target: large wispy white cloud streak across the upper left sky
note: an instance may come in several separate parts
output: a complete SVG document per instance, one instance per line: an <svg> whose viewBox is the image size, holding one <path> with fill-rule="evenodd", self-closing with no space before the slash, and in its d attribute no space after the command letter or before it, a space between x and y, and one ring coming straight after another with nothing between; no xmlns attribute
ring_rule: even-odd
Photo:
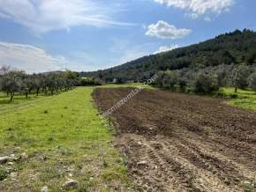
<svg viewBox="0 0 256 192"><path fill-rule="evenodd" d="M36 33L82 25L131 25L115 21L114 10L117 9L93 0L0 0L0 17L10 18Z"/></svg>

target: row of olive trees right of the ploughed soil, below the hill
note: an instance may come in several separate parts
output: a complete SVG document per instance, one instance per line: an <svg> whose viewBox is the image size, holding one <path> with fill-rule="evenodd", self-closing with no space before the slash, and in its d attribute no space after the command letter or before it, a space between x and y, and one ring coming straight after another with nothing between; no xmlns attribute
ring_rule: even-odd
<svg viewBox="0 0 256 192"><path fill-rule="evenodd" d="M211 94L222 86L251 88L256 91L256 67L248 65L219 65L215 67L183 70L165 70L158 72L154 85L172 91L197 92Z"/></svg>

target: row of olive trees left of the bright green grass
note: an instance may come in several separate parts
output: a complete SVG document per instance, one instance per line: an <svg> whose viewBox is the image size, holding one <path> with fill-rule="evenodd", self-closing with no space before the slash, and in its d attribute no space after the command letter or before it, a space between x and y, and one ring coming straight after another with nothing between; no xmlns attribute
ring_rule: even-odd
<svg viewBox="0 0 256 192"><path fill-rule="evenodd" d="M11 101L16 93L27 98L29 94L68 91L76 85L79 85L79 78L71 70L30 75L23 70L11 70L9 66L0 68L0 91L6 92Z"/></svg>

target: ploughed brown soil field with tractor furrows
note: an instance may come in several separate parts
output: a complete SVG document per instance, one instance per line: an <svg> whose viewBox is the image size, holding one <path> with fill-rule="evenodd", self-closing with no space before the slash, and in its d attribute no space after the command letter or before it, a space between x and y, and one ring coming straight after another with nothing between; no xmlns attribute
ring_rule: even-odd
<svg viewBox="0 0 256 192"><path fill-rule="evenodd" d="M131 91L93 96L104 112ZM143 90L112 114L134 182L146 191L256 191L256 113L223 101Z"/></svg>

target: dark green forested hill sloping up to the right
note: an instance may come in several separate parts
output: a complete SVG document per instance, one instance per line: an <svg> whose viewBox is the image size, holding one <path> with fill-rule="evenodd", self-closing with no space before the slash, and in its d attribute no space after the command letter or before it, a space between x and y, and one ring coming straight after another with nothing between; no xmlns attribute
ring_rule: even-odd
<svg viewBox="0 0 256 192"><path fill-rule="evenodd" d="M245 29L221 34L215 39L157 55L148 55L123 65L82 75L112 81L147 79L158 70L204 68L222 63L255 63L256 33Z"/></svg>

